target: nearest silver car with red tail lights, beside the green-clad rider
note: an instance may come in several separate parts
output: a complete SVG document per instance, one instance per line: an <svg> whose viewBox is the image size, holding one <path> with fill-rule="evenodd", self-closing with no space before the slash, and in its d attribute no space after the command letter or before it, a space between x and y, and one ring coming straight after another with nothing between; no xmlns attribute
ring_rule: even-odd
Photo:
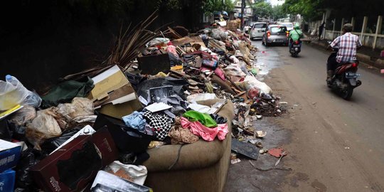
<svg viewBox="0 0 384 192"><path fill-rule="evenodd" d="M262 35L262 43L265 46L270 46L272 43L279 43L284 46L287 46L288 36L289 32L287 31L286 26L270 25L265 30L265 33Z"/></svg>

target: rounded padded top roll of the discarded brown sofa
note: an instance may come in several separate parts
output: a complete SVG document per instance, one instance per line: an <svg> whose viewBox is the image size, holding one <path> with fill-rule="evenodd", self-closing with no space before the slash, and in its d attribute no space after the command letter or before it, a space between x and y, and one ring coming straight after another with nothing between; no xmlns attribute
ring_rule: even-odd
<svg viewBox="0 0 384 192"><path fill-rule="evenodd" d="M201 105L214 105L220 100L206 100L198 102ZM225 150L228 150L231 137L231 122L233 119L233 103L227 104L218 112L220 116L228 119L228 134L223 141L217 138L212 142L206 142L199 139L193 144L164 145L158 148L148 149L150 158L144 162L148 171L168 171L174 164L178 156L178 150L181 147L180 156L177 163L171 167L171 170L199 169L216 164L223 156Z"/></svg>

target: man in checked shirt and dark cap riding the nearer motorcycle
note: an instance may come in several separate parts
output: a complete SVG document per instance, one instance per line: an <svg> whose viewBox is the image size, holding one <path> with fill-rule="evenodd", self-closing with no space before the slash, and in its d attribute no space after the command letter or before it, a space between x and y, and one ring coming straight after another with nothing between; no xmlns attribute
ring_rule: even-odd
<svg viewBox="0 0 384 192"><path fill-rule="evenodd" d="M326 63L327 76L326 81L331 82L334 76L334 71L339 65L346 63L351 60L356 60L356 51L361 48L361 41L358 36L353 35L352 24L346 23L343 26L343 33L338 36L327 48L338 48L336 57L329 58Z"/></svg>

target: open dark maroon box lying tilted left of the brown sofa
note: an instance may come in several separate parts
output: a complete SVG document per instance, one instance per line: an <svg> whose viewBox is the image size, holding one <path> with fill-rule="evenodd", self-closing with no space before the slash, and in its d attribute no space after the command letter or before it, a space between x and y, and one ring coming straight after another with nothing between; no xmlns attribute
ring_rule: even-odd
<svg viewBox="0 0 384 192"><path fill-rule="evenodd" d="M44 191L80 191L118 157L110 132L80 135L33 166L30 173Z"/></svg>

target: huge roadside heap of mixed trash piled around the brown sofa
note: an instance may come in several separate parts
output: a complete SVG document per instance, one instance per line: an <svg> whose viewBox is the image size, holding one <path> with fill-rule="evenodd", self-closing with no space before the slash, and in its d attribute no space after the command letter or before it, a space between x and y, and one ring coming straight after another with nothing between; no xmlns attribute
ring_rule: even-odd
<svg viewBox="0 0 384 192"><path fill-rule="evenodd" d="M216 26L162 34L142 47L127 43L129 58L137 55L128 63L118 62L122 50L114 48L108 59L115 65L69 75L41 97L11 75L0 81L5 186L150 191L146 149L223 140L229 123L235 138L262 137L252 121L282 113L279 98L257 80L257 48L244 34ZM235 105L233 122L217 114L227 102Z"/></svg>

